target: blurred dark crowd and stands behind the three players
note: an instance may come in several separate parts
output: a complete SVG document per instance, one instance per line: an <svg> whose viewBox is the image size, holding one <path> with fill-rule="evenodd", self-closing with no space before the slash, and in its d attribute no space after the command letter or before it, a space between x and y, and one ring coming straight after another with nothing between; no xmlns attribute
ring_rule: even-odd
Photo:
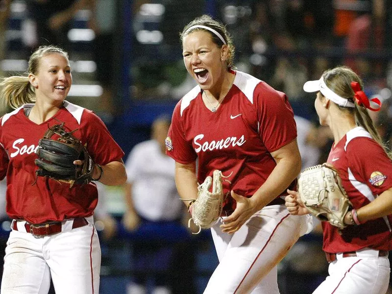
<svg viewBox="0 0 392 294"><path fill-rule="evenodd" d="M356 71L368 97L383 102L372 118L391 147L391 0L0 0L0 77L24 73L39 45L66 49L73 69L67 100L101 117L126 160L135 145L160 140L151 134L152 123L170 118L178 100L196 85L182 61L179 32L202 14L227 24L238 70L288 95L303 168L325 162L332 141L318 124L314 95L302 86L337 65ZM1 103L1 115L8 111ZM154 168L153 162L145 165ZM142 180L153 176L139 175ZM202 293L218 263L210 233L192 235L186 211L170 220L163 213L148 220L133 211L128 203L132 184L99 187L99 293ZM132 211L139 218L127 215ZM9 233L3 206L0 214L3 247ZM316 221L315 230L279 265L281 293L312 293L327 266ZM132 288L139 281L147 292Z"/></svg>

